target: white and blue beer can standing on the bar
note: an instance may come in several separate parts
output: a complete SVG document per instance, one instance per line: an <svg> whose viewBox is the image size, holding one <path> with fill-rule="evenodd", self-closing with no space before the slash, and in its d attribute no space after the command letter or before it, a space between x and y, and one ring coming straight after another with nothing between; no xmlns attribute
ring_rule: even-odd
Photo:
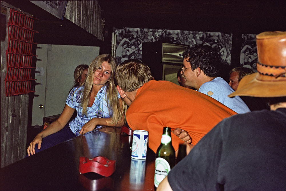
<svg viewBox="0 0 286 191"><path fill-rule="evenodd" d="M134 130L131 157L134 159L146 159L147 144L148 131Z"/></svg>

